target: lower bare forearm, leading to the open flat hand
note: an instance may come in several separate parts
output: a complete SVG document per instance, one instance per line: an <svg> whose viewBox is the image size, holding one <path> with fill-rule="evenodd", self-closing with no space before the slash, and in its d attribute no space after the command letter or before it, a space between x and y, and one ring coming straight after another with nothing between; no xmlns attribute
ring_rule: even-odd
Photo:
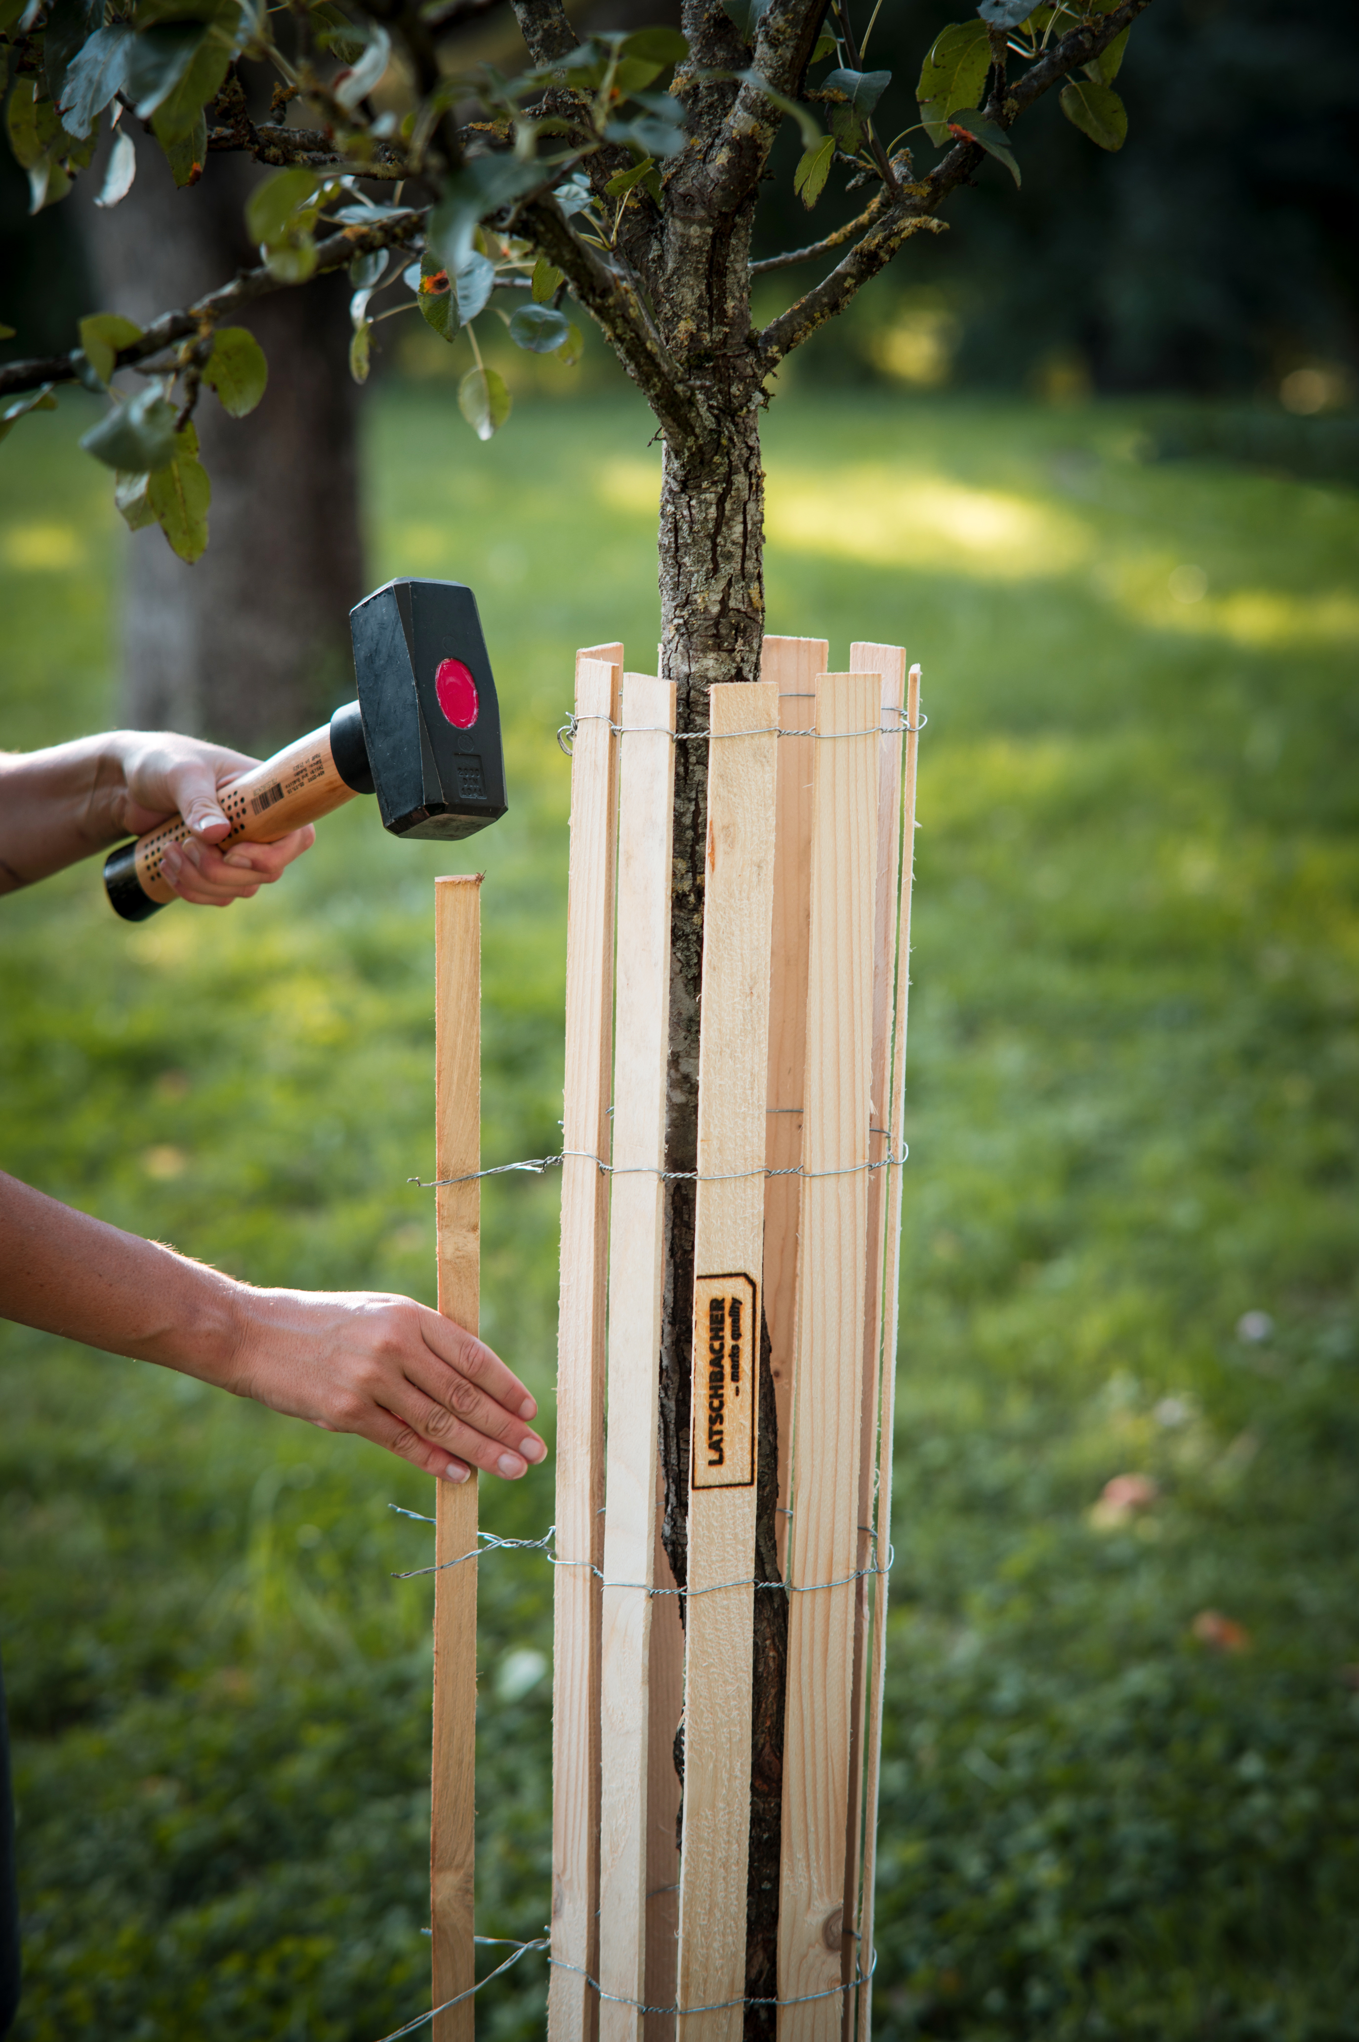
<svg viewBox="0 0 1359 2042"><path fill-rule="evenodd" d="M0 1172L0 1315L233 1389L243 1286Z"/></svg>

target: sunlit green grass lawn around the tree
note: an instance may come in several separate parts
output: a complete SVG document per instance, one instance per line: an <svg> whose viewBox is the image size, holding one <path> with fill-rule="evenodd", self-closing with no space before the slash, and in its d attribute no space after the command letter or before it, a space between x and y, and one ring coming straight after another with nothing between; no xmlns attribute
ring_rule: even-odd
<svg viewBox="0 0 1359 2042"><path fill-rule="evenodd" d="M119 533L0 457L0 741L100 727ZM924 662L883 2038L1359 2038L1359 500L1134 406L768 415L768 619ZM262 1282L431 1299L431 876L486 870L484 1156L558 1141L570 655L656 639L638 404L370 412L372 580L476 586L511 815L358 805L268 898L0 905L0 1162ZM37 500L35 500L37 498ZM486 1186L550 1393L556 1186ZM429 1482L0 1329L22 2042L374 2042L427 2005ZM1106 1482L1142 1476L1102 1501ZM1124 1501L1120 1503L1120 1495ZM1142 1501L1136 1501L1136 1499ZM537 1534L550 1474L484 1487ZM550 1905L550 1578L482 1568L478 1913ZM488 1956L490 1962L490 1956ZM527 1958L480 2007L542 2034Z"/></svg>

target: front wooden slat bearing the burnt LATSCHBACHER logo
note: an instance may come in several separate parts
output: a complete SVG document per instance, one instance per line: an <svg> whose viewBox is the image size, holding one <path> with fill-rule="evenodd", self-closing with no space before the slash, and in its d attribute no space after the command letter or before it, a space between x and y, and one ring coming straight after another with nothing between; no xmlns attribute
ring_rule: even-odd
<svg viewBox="0 0 1359 2042"><path fill-rule="evenodd" d="M709 690L678 2005L738 2005L678 2042L740 2042L746 1989L777 721L777 682Z"/></svg>

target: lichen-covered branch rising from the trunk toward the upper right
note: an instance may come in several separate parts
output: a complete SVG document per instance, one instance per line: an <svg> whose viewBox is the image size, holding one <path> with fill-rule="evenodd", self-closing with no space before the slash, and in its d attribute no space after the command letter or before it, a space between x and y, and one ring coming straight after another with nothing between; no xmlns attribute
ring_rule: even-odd
<svg viewBox="0 0 1359 2042"><path fill-rule="evenodd" d="M997 94L991 96L985 106L987 118L995 120L997 127L1012 127L1034 100L1050 92L1052 86L1061 84L1081 63L1089 63L1106 51L1146 6L1151 6L1151 0L1122 0L1122 6L1110 14L1099 14L1097 20L1073 29L1061 43L1055 43L1046 57L1040 57L1024 78L1005 90L1003 100ZM887 268L911 235L922 229L940 233L944 223L936 221L934 214L950 192L960 184L971 184L973 172L983 161L985 149L979 149L975 141L960 141L948 151L942 163L936 163L928 178L920 184L903 186L901 204L891 208L889 218L864 235L844 261L828 278L822 278L805 298L799 298L797 304L791 304L787 312L768 323L760 335L760 349L768 368L772 370L795 347L801 347L817 327L824 327L828 319L842 312L850 298Z"/></svg>

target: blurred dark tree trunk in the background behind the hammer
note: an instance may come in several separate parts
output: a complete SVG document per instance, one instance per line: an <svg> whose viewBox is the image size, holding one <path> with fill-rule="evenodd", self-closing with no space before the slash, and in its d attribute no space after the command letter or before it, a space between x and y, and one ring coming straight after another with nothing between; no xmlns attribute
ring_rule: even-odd
<svg viewBox="0 0 1359 2042"><path fill-rule="evenodd" d="M180 192L155 141L127 127L137 182L86 225L100 306L145 325L255 259L243 204L260 172L210 155L202 186ZM270 749L354 692L347 613L364 566L345 302L337 276L245 308L270 384L247 419L206 388L198 402L210 545L190 568L159 527L131 537L123 717L135 729Z"/></svg>

